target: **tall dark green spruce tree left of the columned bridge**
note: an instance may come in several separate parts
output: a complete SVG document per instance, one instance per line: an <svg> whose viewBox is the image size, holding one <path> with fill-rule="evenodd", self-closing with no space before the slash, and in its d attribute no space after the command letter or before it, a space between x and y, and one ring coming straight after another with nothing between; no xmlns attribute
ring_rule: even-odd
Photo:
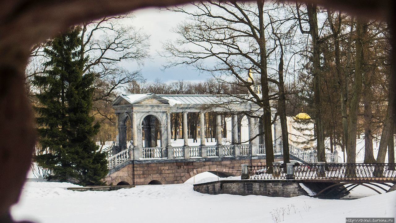
<svg viewBox="0 0 396 223"><path fill-rule="evenodd" d="M50 59L41 75L34 77L40 88L36 106L40 146L49 149L35 157L52 170L48 179L74 181L81 185L103 184L107 174L106 155L97 152L93 137L99 131L92 109L91 73L83 74L86 60L80 59L80 27L53 38L44 53Z"/></svg>

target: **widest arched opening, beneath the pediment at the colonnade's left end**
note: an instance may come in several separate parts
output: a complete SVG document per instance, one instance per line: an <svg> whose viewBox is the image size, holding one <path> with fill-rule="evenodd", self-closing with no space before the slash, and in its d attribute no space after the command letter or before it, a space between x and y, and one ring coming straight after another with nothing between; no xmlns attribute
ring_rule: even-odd
<svg viewBox="0 0 396 223"><path fill-rule="evenodd" d="M147 115L142 121L142 140L144 148L161 147L161 123L154 115Z"/></svg>

